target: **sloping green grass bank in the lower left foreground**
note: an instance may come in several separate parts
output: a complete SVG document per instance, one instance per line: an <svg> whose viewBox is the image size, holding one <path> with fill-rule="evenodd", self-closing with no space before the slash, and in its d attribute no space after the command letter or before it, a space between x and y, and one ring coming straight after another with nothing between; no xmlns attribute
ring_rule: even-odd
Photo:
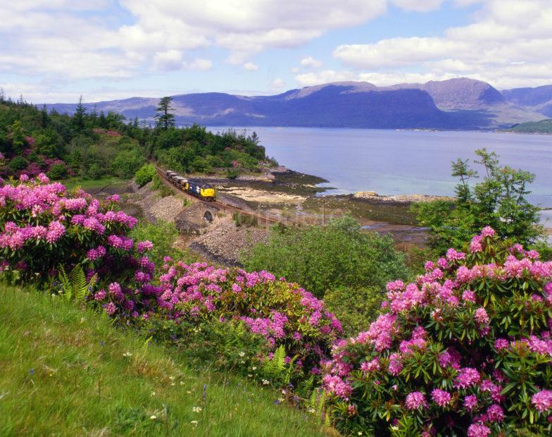
<svg viewBox="0 0 552 437"><path fill-rule="evenodd" d="M277 390L190 369L60 298L0 284L0 320L0 436L325 435Z"/></svg>

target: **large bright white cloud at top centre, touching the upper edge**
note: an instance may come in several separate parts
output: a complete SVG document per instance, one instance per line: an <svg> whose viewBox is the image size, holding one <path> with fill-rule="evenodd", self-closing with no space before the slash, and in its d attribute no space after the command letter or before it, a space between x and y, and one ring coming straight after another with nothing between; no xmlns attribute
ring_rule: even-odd
<svg viewBox="0 0 552 437"><path fill-rule="evenodd" d="M228 61L241 64L267 48L298 47L327 30L350 27L381 15L387 0L122 0L136 18L137 42L151 35L156 44L183 48L192 41L228 49ZM201 35L201 37L197 37Z"/></svg>

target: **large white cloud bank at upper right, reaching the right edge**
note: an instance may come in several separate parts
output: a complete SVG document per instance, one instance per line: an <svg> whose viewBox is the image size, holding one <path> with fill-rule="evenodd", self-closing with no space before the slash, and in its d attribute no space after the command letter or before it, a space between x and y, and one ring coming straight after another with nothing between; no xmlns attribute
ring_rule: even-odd
<svg viewBox="0 0 552 437"><path fill-rule="evenodd" d="M458 6L474 3L456 1ZM543 85L552 78L552 4L550 0L487 0L473 23L451 27L441 37L346 44L333 55L344 66L360 70L359 75L370 73L383 82L390 74L405 77L403 70L410 69L420 71L421 77L465 75L501 88Z"/></svg>

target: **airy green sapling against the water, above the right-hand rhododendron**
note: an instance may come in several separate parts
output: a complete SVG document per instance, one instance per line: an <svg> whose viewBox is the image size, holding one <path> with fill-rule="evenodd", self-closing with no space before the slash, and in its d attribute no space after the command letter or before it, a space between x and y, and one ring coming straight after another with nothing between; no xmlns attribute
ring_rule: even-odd
<svg viewBox="0 0 552 437"><path fill-rule="evenodd" d="M529 245L543 235L538 207L527 202L527 185L534 174L498 164L498 155L486 149L475 151L485 169L482 182L471 187L477 178L468 160L452 164L452 176L460 178L454 202L413 204L422 226L429 228L429 245L444 253L447 247L462 247L484 226L491 226L501 238L512 238Z"/></svg>

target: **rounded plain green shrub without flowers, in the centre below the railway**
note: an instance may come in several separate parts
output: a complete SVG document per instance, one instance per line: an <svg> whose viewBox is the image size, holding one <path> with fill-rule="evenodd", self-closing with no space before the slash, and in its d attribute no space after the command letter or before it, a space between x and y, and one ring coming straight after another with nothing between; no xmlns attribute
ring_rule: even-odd
<svg viewBox="0 0 552 437"><path fill-rule="evenodd" d="M325 228L273 228L268 242L241 260L246 269L272 271L317 297L339 286L384 290L387 281L408 274L391 237L363 232L351 216L333 219Z"/></svg>

